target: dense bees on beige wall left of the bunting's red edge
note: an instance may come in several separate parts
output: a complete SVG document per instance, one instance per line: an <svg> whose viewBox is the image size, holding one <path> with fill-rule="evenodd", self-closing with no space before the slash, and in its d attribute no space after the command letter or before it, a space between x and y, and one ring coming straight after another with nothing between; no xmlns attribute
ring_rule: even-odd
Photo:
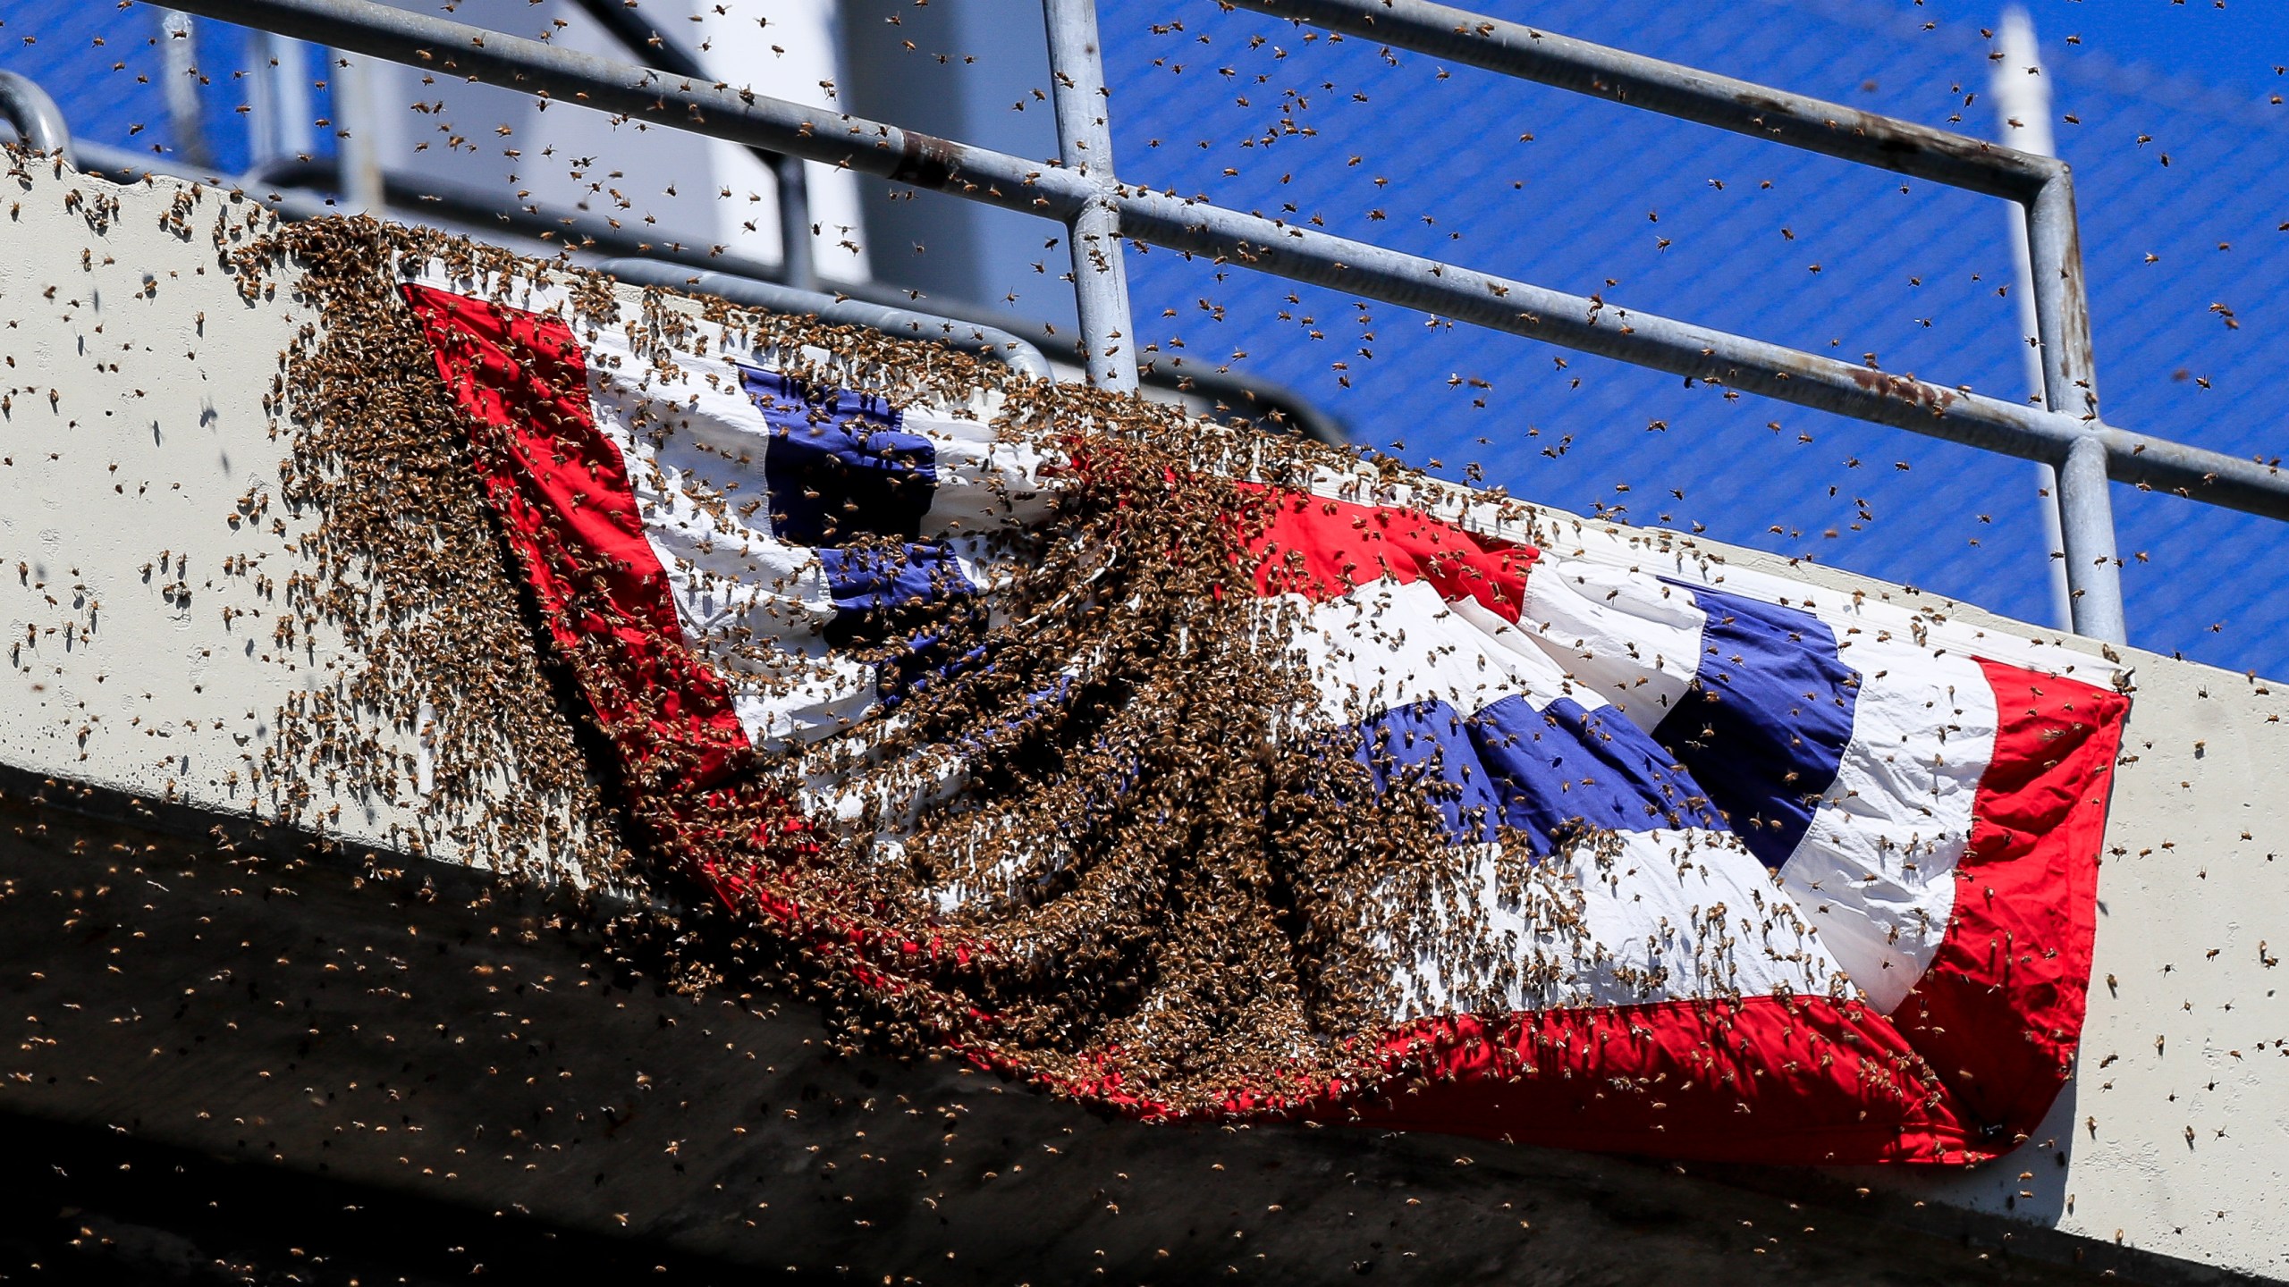
<svg viewBox="0 0 2289 1287"><path fill-rule="evenodd" d="M215 240L250 300L286 291L323 323L279 353L270 398L277 502L316 515L272 605L279 657L339 639L362 660L288 698L252 788L279 820L318 829L341 799L419 797L421 827L391 836L403 852L613 886L632 856L536 648L467 433L403 321L389 234L250 218Z"/></svg>

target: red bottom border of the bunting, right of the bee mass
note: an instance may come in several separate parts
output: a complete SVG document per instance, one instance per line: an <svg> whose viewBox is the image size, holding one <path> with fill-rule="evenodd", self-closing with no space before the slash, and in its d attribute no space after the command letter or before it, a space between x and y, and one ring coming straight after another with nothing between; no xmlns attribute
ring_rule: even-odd
<svg viewBox="0 0 2289 1287"><path fill-rule="evenodd" d="M1991 1156L1925 1060L1859 1001L1744 996L1456 1014L1392 1031L1380 1065L1387 1081L1364 1095L1351 1085L1236 1095L1190 1115L1128 1095L1117 1079L1060 1090L1147 1120L1316 1120L1678 1161Z"/></svg>

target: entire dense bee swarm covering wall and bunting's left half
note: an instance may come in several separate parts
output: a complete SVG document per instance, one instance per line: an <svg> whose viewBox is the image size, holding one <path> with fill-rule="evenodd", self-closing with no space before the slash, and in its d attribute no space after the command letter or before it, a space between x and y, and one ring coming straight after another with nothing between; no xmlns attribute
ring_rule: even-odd
<svg viewBox="0 0 2289 1287"><path fill-rule="evenodd" d="M1502 1010L1522 976L1554 985L1595 955L1577 891L1522 854L1499 884L1531 907L1543 950L1456 932L1486 877L1447 840L1444 788L1307 714L1321 701L1291 646L1298 607L1254 595L1266 497L1328 476L1371 492L1396 465L810 318L662 291L629 311L561 261L371 220L277 227L236 263L247 291L286 284L323 323L282 355L275 401L279 495L320 515L304 538L316 575L286 589L291 611L364 657L339 692L282 712L263 779L286 818L311 808L311 779L401 797L412 767L396 747L419 721L428 802L478 818L456 852L597 895L629 957L694 989L813 998L852 1049L952 1047L1149 1113L1385 1081L1380 1037L1419 1008L1394 962L1437 960L1449 1010ZM508 307L561 289L575 339L625 332L636 362L620 378L666 385L678 355L719 346L813 389L952 408L1055 460L1048 520L991 536L991 605L932 598L838 639L872 666L909 664L918 634L934 657L987 662L810 747L675 733L684 694L641 682L657 671L632 653L641 630L613 630L641 625L613 598L616 568L504 540L488 472L508 444L439 380L398 293L421 273L490 284ZM508 344L520 371L561 357ZM655 444L678 431L675 405L639 419ZM533 577L568 598L536 602ZM602 630L552 634L552 614ZM861 804L822 815L819 783ZM540 806L563 802L584 827ZM1591 829L1570 845L1616 850Z"/></svg>

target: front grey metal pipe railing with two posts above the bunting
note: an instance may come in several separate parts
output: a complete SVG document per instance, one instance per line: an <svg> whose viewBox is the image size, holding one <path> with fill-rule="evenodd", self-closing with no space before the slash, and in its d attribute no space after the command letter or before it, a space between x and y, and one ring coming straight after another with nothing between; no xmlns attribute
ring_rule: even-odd
<svg viewBox="0 0 2289 1287"><path fill-rule="evenodd" d="M1124 183L1112 169L1094 0L1041 2L1048 18L1058 163L806 108L698 76L611 62L375 0L169 0L176 9L529 92L545 103L579 103L623 119L1060 220L1074 252L1087 376L1115 389L1138 385L1128 275L1122 266L1122 240L1131 238L1687 380L2044 460L2058 469L2074 630L2104 641L2124 641L2108 479L2289 518L2289 476L2278 463L2147 437L2099 419L2074 181L2060 160L1421 0L1225 2L2019 202L2028 215L2044 405L1852 366L1284 220L1243 215L1183 199L1174 190Z"/></svg>

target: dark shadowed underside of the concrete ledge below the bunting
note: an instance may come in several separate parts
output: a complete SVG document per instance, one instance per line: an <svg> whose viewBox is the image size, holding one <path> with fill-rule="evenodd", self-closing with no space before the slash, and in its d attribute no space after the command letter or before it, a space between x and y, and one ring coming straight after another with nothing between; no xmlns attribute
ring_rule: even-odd
<svg viewBox="0 0 2289 1287"><path fill-rule="evenodd" d="M89 1239L160 1248L146 1273L316 1255L336 1282L467 1280L572 1248L559 1271L588 1282L2081 1280L1998 1227L1914 1232L1854 1195L1437 1136L1144 1127L955 1060L838 1058L808 1005L678 996L645 943L556 927L538 895L357 882L71 818L69 788L11 795L0 1131L64 1170L14 1209L71 1205ZM158 1145L238 1168L169 1205L195 1179ZM153 1172L133 1200L96 1189L119 1163ZM247 1207L304 1255L263 1264Z"/></svg>

